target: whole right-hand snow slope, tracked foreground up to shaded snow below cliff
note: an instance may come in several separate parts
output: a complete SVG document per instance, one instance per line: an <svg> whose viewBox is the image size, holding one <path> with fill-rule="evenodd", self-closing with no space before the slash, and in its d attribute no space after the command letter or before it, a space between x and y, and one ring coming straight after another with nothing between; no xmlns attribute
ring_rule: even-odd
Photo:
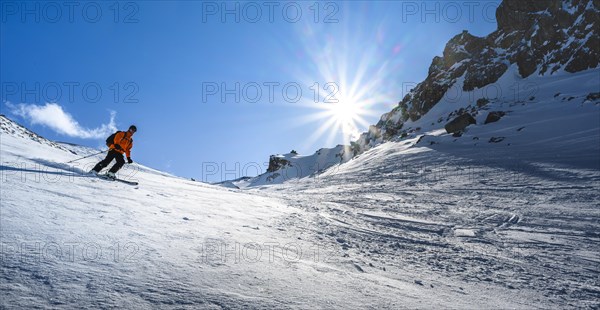
<svg viewBox="0 0 600 310"><path fill-rule="evenodd" d="M412 278L444 300L437 307L461 307L444 295L453 292L469 309L595 309L600 106L574 100L521 106L459 138L383 143L314 178L250 192L306 210L297 233L337 242L340 264Z"/></svg>

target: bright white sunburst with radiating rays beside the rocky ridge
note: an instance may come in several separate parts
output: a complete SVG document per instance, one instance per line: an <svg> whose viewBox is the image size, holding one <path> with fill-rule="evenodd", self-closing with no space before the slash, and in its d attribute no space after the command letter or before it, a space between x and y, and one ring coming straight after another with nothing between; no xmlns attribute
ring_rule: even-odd
<svg viewBox="0 0 600 310"><path fill-rule="evenodd" d="M399 57L385 55L385 51L393 52L391 47L365 46L374 31L342 27L339 35L323 37L318 27L305 25L300 36L304 39L302 55L311 66L303 67L298 78L314 85L310 88L314 96L302 104L315 112L298 118L298 126L320 123L305 140L306 148L324 136L329 145L336 141L349 145L397 100L397 85L390 82L398 63L388 57Z"/></svg>

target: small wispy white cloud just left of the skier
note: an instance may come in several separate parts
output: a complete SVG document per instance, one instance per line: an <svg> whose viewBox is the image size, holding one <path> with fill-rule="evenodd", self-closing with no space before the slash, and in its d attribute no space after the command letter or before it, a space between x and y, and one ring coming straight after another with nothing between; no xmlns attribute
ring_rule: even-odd
<svg viewBox="0 0 600 310"><path fill-rule="evenodd" d="M71 116L65 112L63 108L56 103L46 103L45 105L35 104L11 104L6 105L10 108L13 114L19 115L31 124L39 124L47 126L55 132L70 137L83 139L101 139L109 136L117 130L115 125L114 111L110 112L110 121L108 124L102 124L98 128L84 128Z"/></svg>

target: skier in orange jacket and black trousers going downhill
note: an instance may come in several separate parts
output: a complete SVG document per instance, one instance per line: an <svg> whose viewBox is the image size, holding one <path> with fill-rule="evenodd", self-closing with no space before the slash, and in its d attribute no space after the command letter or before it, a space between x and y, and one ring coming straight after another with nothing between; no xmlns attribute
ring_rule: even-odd
<svg viewBox="0 0 600 310"><path fill-rule="evenodd" d="M131 160L131 147L133 146L133 139L131 138L133 134L137 131L135 125L129 126L127 131L117 131L114 135L114 139L110 141L109 139L106 141L106 144L109 147L108 154L106 154L106 158L101 162L97 163L96 166L92 169L92 173L98 174L102 168L108 166L113 159L116 159L117 162L110 168L107 177L111 179L116 179L116 173L121 169L121 167L125 164L125 159L123 158L123 153L127 156L127 162L133 163Z"/></svg>

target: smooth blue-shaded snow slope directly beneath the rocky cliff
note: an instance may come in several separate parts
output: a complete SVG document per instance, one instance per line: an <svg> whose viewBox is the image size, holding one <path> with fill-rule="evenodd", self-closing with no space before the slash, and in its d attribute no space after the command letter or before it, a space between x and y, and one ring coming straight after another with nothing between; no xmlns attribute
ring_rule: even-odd
<svg viewBox="0 0 600 310"><path fill-rule="evenodd" d="M540 158L551 156L548 152L556 148L561 153L572 150L571 154L580 160L595 157L600 130L600 68L526 79L517 70L516 66L510 67L495 84L495 90L502 95L481 106L468 100L444 98L423 117L407 121L405 137L395 140L423 136L421 143L443 141L465 153L497 143L512 146L515 152L537 149ZM473 98L478 91L462 96ZM440 124L461 113L470 113L476 124L459 135L440 128ZM502 115L499 120L486 124L490 114L498 113Z"/></svg>

